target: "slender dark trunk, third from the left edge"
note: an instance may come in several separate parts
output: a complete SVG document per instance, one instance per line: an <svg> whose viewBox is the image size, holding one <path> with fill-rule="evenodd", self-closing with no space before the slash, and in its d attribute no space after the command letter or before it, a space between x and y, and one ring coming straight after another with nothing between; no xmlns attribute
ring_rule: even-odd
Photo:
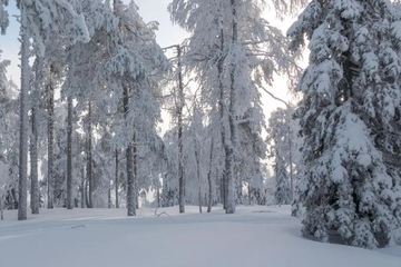
<svg viewBox="0 0 401 267"><path fill-rule="evenodd" d="M55 137L55 88L52 85L52 66L50 66L50 81L47 85L48 97L48 209L55 207L55 185L56 177L53 171L53 137Z"/></svg>

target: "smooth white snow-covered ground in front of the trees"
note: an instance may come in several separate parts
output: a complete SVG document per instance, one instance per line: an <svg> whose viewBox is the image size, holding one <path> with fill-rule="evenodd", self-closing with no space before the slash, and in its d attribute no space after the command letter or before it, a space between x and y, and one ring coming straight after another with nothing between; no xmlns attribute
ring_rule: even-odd
<svg viewBox="0 0 401 267"><path fill-rule="evenodd" d="M401 247L366 250L301 237L288 207L153 210L40 210L27 221L6 211L1 267L399 267Z"/></svg>

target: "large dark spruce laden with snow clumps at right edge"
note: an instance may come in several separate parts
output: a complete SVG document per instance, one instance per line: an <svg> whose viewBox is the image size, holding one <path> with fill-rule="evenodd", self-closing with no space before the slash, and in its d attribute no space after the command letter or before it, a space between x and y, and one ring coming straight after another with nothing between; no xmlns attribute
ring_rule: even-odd
<svg viewBox="0 0 401 267"><path fill-rule="evenodd" d="M375 248L401 243L401 22L390 1L312 1L290 28L310 41L299 82L303 234Z"/></svg>

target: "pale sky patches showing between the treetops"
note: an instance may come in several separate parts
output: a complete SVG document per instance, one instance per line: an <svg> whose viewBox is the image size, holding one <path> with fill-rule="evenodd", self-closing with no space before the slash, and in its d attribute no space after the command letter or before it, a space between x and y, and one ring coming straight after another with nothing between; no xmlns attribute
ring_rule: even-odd
<svg viewBox="0 0 401 267"><path fill-rule="evenodd" d="M125 3L129 3L130 0L123 0ZM167 6L172 0L136 0L135 3L139 7L139 14L144 18L146 22L158 21L159 30L157 34L157 41L160 47L169 47L172 44L180 43L188 33L182 30L178 26L175 26L170 22L169 13L167 11ZM8 69L8 76L12 78L14 83L20 85L20 69L19 65L19 49L20 43L18 41L19 36L19 23L16 21L16 18L12 16L19 14L19 10L16 8L14 0L10 1L8 7L10 13L10 27L7 29L6 36L0 36L0 49L3 51L1 55L2 59L11 60L11 66ZM291 21L294 19L287 19L284 22L274 20L272 21L272 13L266 12L270 22L275 26L280 26L283 31L291 26ZM275 96L288 101L294 100L293 96L288 93L286 81L284 78L277 77L273 87L267 88ZM283 107L283 103L273 100L265 92L262 92L265 113L268 115L276 107Z"/></svg>

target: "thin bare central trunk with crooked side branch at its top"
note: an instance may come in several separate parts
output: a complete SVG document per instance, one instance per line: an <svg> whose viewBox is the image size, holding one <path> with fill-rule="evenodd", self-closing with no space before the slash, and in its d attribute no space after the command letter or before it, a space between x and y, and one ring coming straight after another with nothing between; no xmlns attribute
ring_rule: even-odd
<svg viewBox="0 0 401 267"><path fill-rule="evenodd" d="M182 47L177 46L178 57L178 107L177 107L177 127L178 127L178 204L179 212L185 212L185 180L183 166L183 109L184 109L184 85L182 72Z"/></svg>

